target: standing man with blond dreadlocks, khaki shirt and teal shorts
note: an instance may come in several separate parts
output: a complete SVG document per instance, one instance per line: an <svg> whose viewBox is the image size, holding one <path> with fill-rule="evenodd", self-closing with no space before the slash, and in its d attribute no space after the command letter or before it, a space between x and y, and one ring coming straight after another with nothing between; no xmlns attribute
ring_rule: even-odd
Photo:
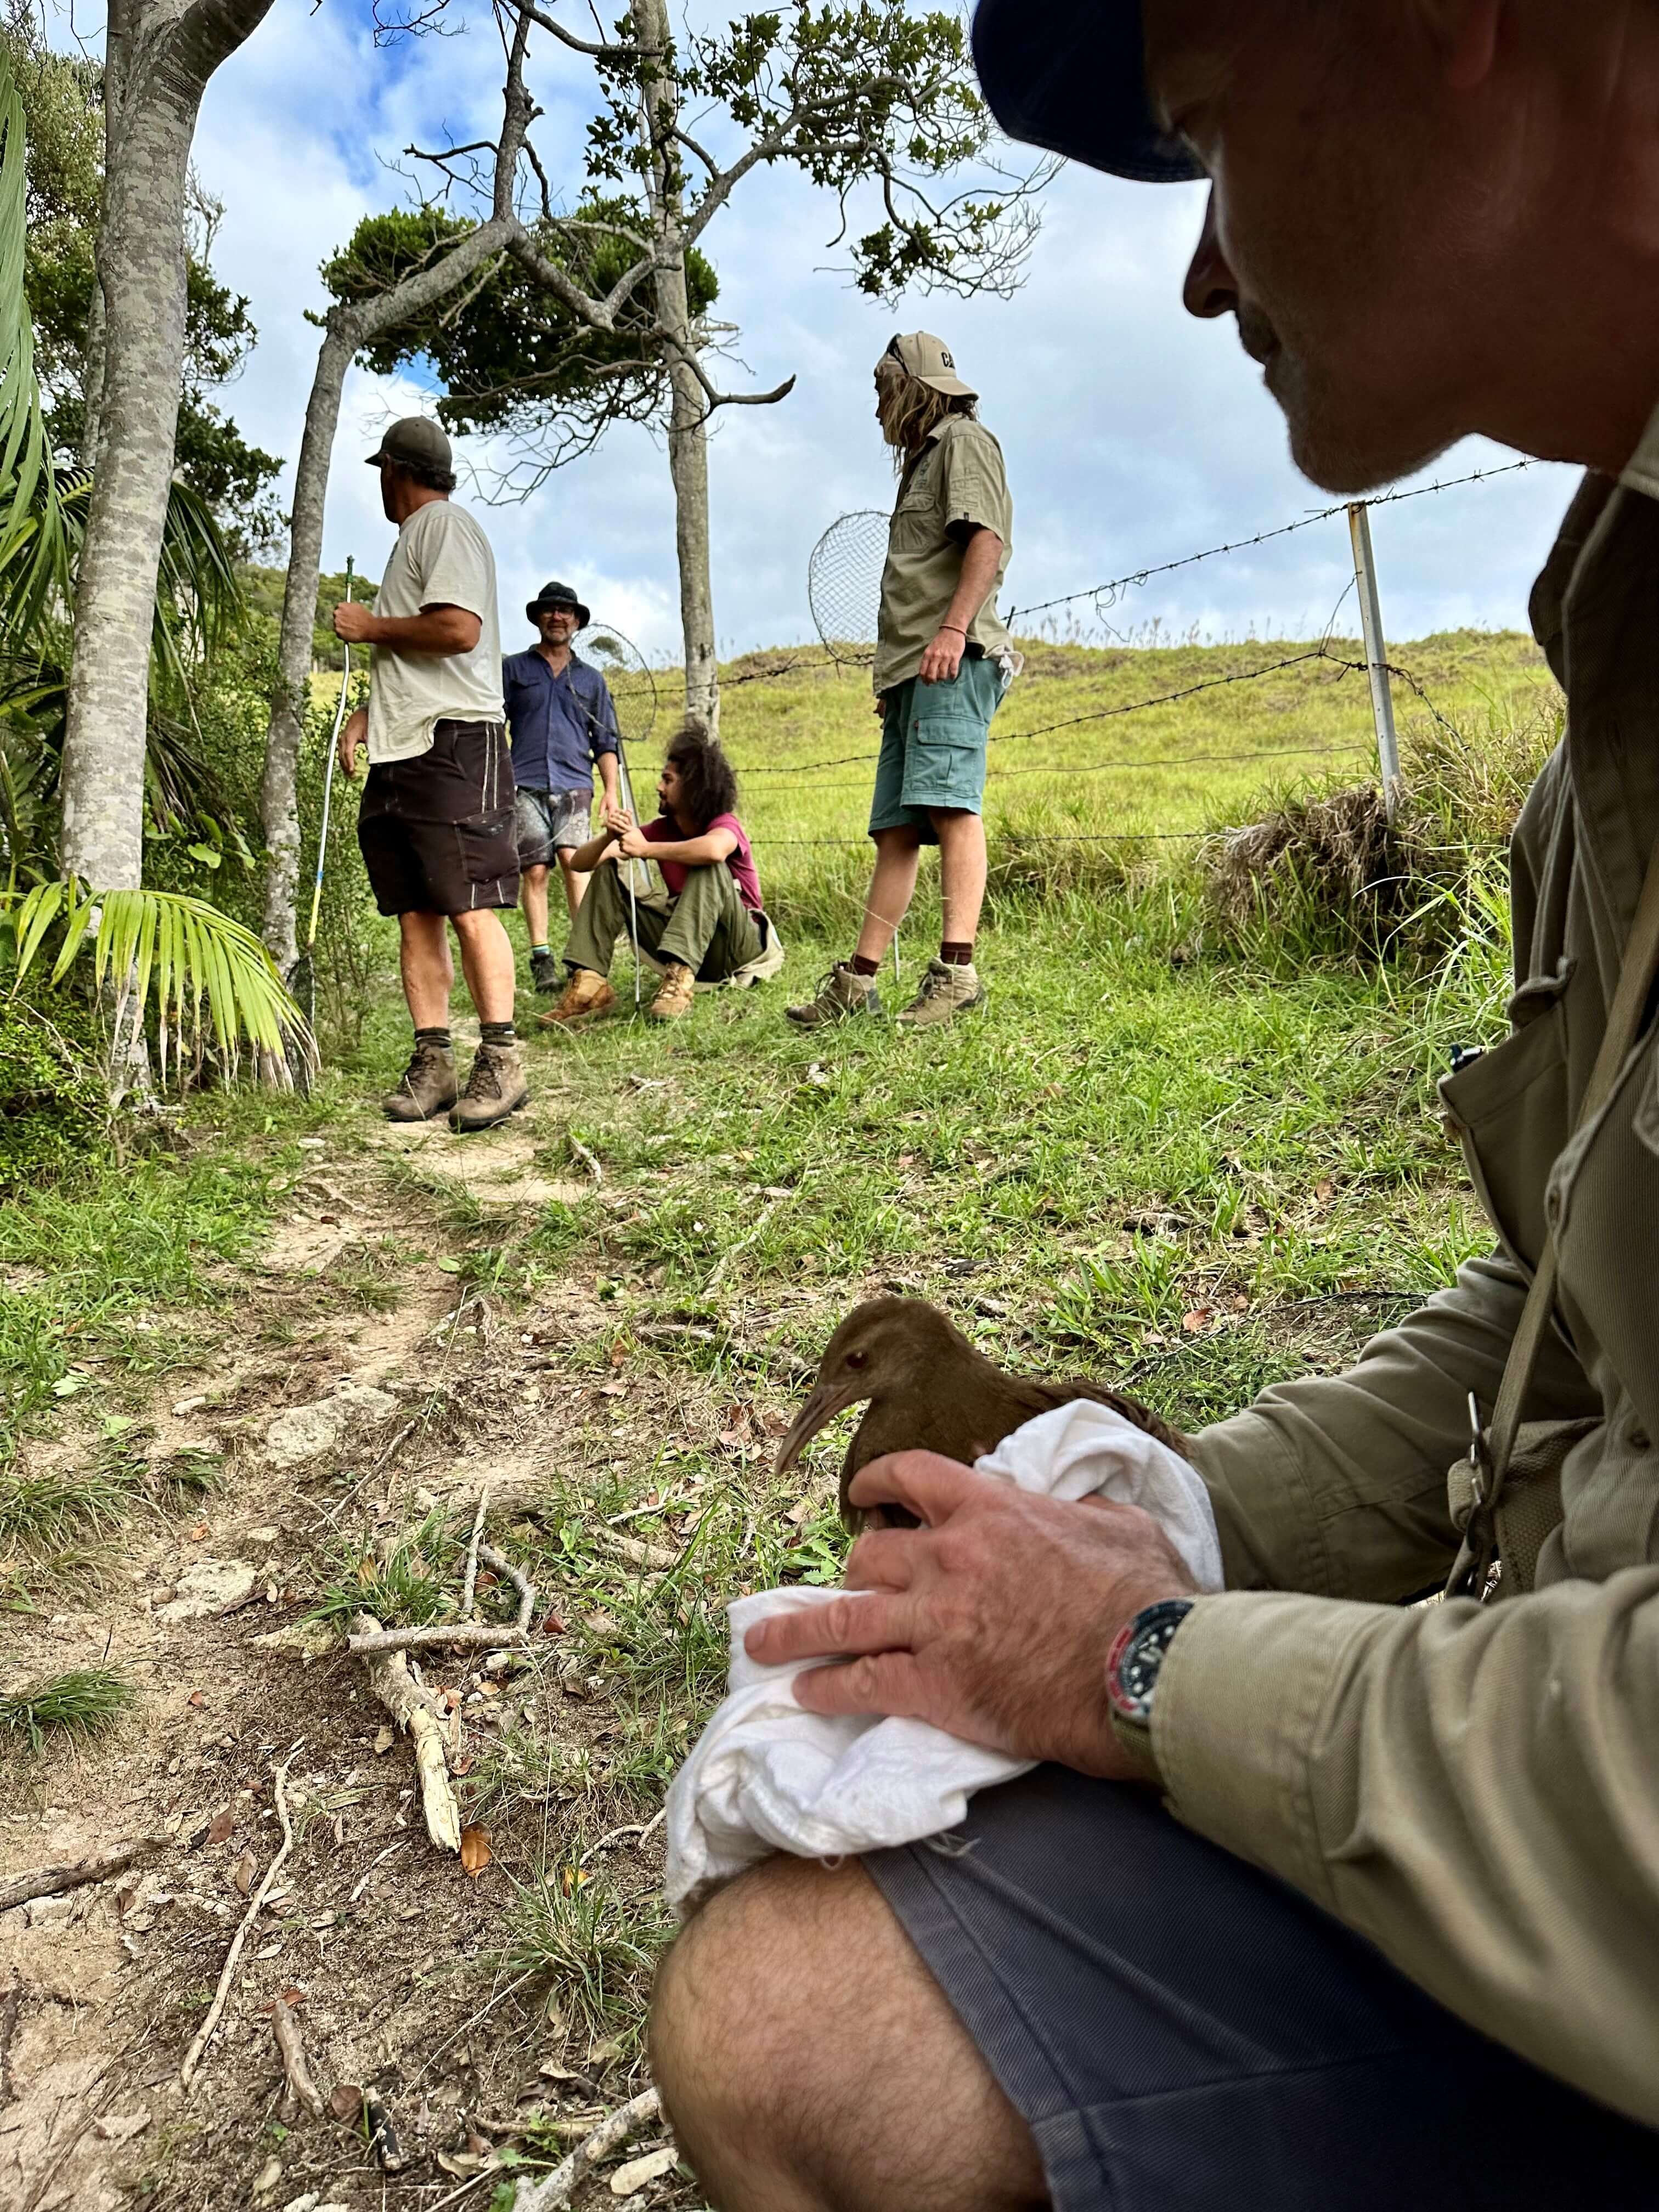
<svg viewBox="0 0 1659 2212"><path fill-rule="evenodd" d="M801 1029L880 1013L874 975L916 894L922 845L940 849L942 942L898 1015L931 1029L984 1006L973 936L984 900L984 748L1015 668L995 593L1009 566L1013 502L1002 447L978 394L925 330L876 363L876 420L894 449L898 500L876 622L880 759L869 805L876 869L852 960L790 1006Z"/></svg>

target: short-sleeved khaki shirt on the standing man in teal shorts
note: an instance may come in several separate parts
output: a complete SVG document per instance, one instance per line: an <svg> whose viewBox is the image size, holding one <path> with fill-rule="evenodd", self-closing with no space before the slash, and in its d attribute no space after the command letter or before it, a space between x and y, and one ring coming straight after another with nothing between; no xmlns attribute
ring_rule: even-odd
<svg viewBox="0 0 1659 2212"><path fill-rule="evenodd" d="M876 622L878 692L891 690L922 666L962 582L964 538L951 533L964 522L978 522L1002 540L995 580L967 637L984 653L1002 653L1009 633L998 622L998 591L1013 549L1013 500L1002 447L984 422L947 416L898 480L898 502L887 524Z"/></svg>

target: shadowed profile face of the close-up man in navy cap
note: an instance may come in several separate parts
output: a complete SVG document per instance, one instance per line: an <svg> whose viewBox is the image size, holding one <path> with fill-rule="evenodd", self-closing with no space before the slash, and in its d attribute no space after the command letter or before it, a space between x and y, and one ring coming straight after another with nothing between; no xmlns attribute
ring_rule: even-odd
<svg viewBox="0 0 1659 2212"><path fill-rule="evenodd" d="M1192 314L1234 314L1338 493L1480 427L1504 206L1449 128L1418 0L1146 0L1148 82L1210 170Z"/></svg>

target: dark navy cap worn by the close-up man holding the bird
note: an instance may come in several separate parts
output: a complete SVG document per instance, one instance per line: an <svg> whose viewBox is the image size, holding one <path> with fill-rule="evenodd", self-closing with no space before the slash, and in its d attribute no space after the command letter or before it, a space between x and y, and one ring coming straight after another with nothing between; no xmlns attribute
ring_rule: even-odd
<svg viewBox="0 0 1659 2212"><path fill-rule="evenodd" d="M1137 184L1203 177L1152 119L1141 0L980 0L973 66L991 113L1026 146Z"/></svg>

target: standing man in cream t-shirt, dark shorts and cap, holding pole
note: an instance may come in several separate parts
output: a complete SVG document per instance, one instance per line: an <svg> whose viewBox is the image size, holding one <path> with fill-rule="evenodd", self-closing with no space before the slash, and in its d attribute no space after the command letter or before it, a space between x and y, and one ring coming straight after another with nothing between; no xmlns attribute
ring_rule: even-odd
<svg viewBox="0 0 1659 2212"><path fill-rule="evenodd" d="M495 560L456 489L449 438L422 416L394 422L369 456L398 524L380 597L334 608L334 630L374 646L369 703L341 730L341 768L369 741L358 845L380 914L403 933L414 1053L383 1099L392 1121L491 1128L529 1097L513 1033L513 947L500 907L518 905L513 763L502 710ZM480 1044L456 1086L449 1037L451 925L478 1009Z"/></svg>

